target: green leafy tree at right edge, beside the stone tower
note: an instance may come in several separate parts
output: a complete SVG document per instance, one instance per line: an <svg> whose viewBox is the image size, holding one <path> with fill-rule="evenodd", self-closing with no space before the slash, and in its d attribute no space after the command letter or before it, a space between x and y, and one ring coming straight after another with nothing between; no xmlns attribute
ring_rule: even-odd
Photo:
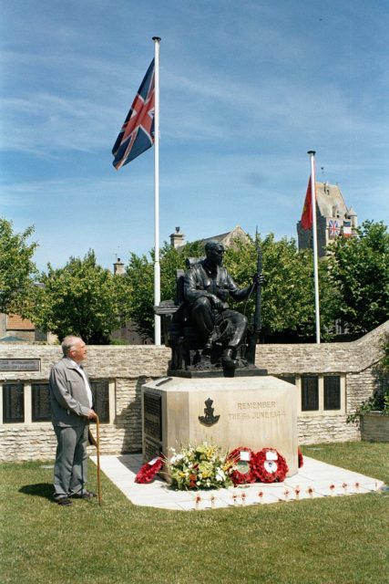
<svg viewBox="0 0 389 584"><path fill-rule="evenodd" d="M357 235L328 246L332 318L361 335L389 317L389 234L383 222L365 221Z"/></svg>

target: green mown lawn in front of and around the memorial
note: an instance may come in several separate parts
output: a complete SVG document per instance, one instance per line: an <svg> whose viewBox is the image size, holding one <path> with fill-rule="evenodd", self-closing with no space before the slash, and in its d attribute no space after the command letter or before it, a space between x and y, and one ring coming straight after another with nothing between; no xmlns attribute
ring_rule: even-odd
<svg viewBox="0 0 389 584"><path fill-rule="evenodd" d="M302 452L389 485L388 444ZM1 584L387 582L384 493L175 512L131 505L102 474L102 506L60 507L45 466L0 464Z"/></svg>

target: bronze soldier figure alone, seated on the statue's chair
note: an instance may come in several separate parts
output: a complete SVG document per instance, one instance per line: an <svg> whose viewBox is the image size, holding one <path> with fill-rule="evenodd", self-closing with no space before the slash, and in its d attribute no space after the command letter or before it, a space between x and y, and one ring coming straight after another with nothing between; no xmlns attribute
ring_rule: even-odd
<svg viewBox="0 0 389 584"><path fill-rule="evenodd" d="M238 366L237 353L245 340L247 318L240 312L230 310L228 297L245 300L249 297L252 286L239 289L227 269L222 266L224 246L217 241L205 245L206 258L191 266L185 274L184 297L190 306L191 321L204 341L207 353L212 346L215 327L223 321L232 325L232 335L228 346L223 350L222 364L234 369ZM254 276L258 284L259 276Z"/></svg>

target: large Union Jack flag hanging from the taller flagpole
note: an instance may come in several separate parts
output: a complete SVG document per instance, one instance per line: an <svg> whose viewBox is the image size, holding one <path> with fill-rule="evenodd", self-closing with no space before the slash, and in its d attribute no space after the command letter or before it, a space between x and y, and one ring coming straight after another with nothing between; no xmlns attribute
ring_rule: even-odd
<svg viewBox="0 0 389 584"><path fill-rule="evenodd" d="M153 59L112 149L117 171L154 144L154 77Z"/></svg>

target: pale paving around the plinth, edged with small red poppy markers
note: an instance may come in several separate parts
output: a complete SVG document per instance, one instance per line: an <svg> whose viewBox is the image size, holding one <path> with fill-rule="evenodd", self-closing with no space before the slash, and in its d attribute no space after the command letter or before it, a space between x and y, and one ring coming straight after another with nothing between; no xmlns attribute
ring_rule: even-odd
<svg viewBox="0 0 389 584"><path fill-rule="evenodd" d="M91 456L91 459L97 463L96 456ZM369 476L304 456L304 464L299 472L286 478L283 483L271 485L254 483L214 491L173 491L159 478L148 485L135 483L135 475L141 464L141 454L100 456L101 470L131 503L177 511L265 505L322 496L356 495L378 491L384 486L382 481Z"/></svg>

